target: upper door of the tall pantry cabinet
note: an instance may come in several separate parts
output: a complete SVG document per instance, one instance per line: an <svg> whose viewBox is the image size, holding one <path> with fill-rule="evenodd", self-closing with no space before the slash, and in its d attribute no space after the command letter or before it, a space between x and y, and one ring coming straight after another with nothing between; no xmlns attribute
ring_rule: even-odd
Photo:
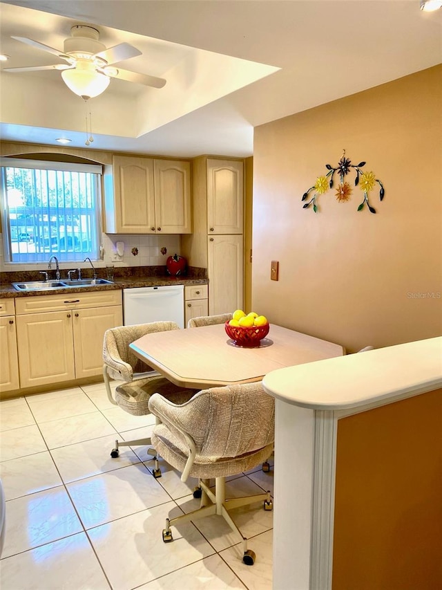
<svg viewBox="0 0 442 590"><path fill-rule="evenodd" d="M242 234L244 165L237 160L207 160L209 234Z"/></svg>

